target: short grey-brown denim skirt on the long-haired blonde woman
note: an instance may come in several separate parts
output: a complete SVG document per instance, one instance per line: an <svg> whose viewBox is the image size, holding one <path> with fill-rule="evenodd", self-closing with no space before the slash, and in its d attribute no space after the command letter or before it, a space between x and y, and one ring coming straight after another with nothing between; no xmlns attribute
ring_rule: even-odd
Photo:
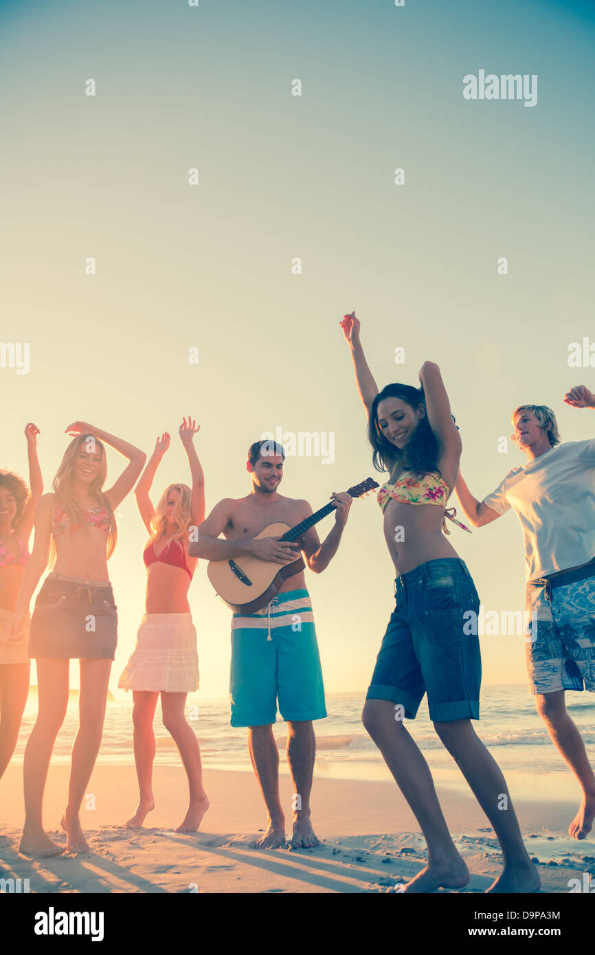
<svg viewBox="0 0 595 955"><path fill-rule="evenodd" d="M30 657L113 660L116 644L112 584L48 574L32 614Z"/></svg>

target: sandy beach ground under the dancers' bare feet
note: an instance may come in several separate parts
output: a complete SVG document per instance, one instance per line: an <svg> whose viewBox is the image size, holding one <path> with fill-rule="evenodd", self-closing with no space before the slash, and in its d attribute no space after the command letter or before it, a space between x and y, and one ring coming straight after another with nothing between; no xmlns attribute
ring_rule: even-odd
<svg viewBox="0 0 595 955"><path fill-rule="evenodd" d="M56 841L69 767L53 766L44 822ZM425 843L396 786L387 782L315 778L312 822L319 848L256 850L265 813L251 773L206 770L210 808L202 831L174 832L187 790L181 767L155 767L157 806L140 830L122 828L135 809L134 766L98 764L82 811L90 855L28 859L18 852L23 819L22 765L0 780L0 878L29 879L34 893L386 893L424 865ZM472 873L465 892L482 893L500 871L498 842L476 800L462 788L436 783L449 828ZM514 792L514 788L511 786ZM290 820L291 781L281 775ZM93 798L92 798L93 797ZM567 837L577 802L517 800L532 858L540 860L542 892L567 893L568 881L595 875L595 840ZM261 829L262 832L262 829ZM290 822L287 833L290 832Z"/></svg>

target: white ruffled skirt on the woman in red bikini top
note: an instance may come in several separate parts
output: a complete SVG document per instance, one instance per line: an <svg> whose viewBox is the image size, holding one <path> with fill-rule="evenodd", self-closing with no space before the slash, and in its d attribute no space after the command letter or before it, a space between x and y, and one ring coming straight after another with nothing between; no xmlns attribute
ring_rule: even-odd
<svg viewBox="0 0 595 955"><path fill-rule="evenodd" d="M199 689L197 634L190 613L145 613L120 690L191 693Z"/></svg>

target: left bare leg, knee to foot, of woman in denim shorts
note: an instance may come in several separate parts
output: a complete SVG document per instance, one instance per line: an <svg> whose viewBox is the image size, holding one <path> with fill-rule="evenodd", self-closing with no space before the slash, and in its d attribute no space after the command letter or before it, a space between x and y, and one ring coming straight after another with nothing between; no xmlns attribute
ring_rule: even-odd
<svg viewBox="0 0 595 955"><path fill-rule="evenodd" d="M367 700L362 720L428 843L428 865L407 883L404 891L432 892L440 886L462 888L469 881L469 871L448 831L428 764L402 720L394 719L394 704L389 700Z"/></svg>

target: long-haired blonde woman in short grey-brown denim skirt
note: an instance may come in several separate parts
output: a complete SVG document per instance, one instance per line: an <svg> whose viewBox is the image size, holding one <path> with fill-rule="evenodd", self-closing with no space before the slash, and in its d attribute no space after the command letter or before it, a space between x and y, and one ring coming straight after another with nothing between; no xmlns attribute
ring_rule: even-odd
<svg viewBox="0 0 595 955"><path fill-rule="evenodd" d="M117 643L117 607L107 559L117 540L114 511L132 490L146 456L119 437L84 421L66 429L74 435L35 512L35 539L14 610L11 639L22 638L39 578L51 561L35 601L29 655L37 663L39 711L25 750L25 827L20 851L57 856L64 850L45 833L42 804L55 737L68 705L69 669L80 660L79 727L73 746L68 803L61 826L67 849L89 852L78 817L103 732L110 669ZM107 477L104 443L127 457L116 483Z"/></svg>

